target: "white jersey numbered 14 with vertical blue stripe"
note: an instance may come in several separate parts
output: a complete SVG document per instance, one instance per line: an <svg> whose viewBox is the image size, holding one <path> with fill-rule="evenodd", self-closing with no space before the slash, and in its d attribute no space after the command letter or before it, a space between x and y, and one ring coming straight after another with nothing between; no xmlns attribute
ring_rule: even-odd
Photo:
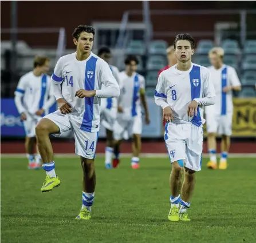
<svg viewBox="0 0 256 243"><path fill-rule="evenodd" d="M116 96L119 95L119 86L108 63L93 53L90 53L84 61L78 61L76 53L64 55L56 64L52 81L57 84L62 83L62 96L72 107L72 112L68 115L77 122L80 129L86 132L98 132L100 97L112 97L112 95L107 97L100 95L100 91L103 91L101 86L113 88L118 91ZM82 99L75 97L76 91L80 89L96 90L96 95Z"/></svg>

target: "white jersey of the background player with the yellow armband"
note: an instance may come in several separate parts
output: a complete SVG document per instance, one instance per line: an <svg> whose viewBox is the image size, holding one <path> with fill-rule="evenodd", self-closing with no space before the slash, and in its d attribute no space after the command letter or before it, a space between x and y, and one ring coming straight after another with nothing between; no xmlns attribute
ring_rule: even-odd
<svg viewBox="0 0 256 243"><path fill-rule="evenodd" d="M141 115L140 89L145 89L145 78L138 73L128 76L125 71L121 71L119 78L121 89L119 105L123 108L123 115L126 118Z"/></svg>

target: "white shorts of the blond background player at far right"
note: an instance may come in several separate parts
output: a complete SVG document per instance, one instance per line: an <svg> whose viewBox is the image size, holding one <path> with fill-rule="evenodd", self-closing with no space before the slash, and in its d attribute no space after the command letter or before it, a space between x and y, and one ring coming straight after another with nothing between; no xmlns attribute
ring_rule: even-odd
<svg viewBox="0 0 256 243"><path fill-rule="evenodd" d="M218 133L226 136L232 134L233 114L212 115L206 114L206 130L207 133Z"/></svg>

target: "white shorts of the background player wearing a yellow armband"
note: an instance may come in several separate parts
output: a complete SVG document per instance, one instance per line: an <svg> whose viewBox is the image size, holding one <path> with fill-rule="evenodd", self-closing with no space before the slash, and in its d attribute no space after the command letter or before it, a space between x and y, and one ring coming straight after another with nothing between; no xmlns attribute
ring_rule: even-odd
<svg viewBox="0 0 256 243"><path fill-rule="evenodd" d="M142 118L141 115L136 115L131 118L124 118L123 114L117 114L117 119L114 125L113 135L115 140L121 140L125 138L125 133L128 132L128 136L132 134L141 134L142 132Z"/></svg>

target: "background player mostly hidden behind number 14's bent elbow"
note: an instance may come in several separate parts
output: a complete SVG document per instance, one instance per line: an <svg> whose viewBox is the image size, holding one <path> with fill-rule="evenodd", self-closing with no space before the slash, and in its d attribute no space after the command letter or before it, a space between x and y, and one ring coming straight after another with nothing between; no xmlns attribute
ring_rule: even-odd
<svg viewBox="0 0 256 243"><path fill-rule="evenodd" d="M98 51L98 56L105 62L109 63L111 60L111 50L108 47L101 47ZM119 70L113 65L109 65L113 76L117 83L119 82ZM101 100L101 125L106 129L107 146L105 148L105 168L111 169L112 154L113 154L113 125L117 115L117 98L107 98Z"/></svg>

